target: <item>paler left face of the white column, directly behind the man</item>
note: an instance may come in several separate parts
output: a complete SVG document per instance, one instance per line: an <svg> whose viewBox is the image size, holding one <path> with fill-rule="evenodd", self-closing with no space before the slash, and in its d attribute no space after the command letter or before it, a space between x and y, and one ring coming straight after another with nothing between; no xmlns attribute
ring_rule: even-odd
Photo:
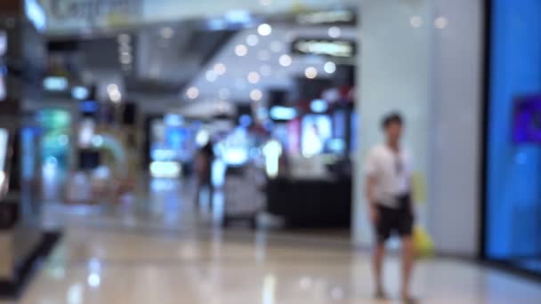
<svg viewBox="0 0 541 304"><path fill-rule="evenodd" d="M366 0L360 10L360 148L355 157L353 239L355 244L365 245L371 241L372 230L367 219L362 163L369 148L383 139L382 116L393 110L402 113L407 127L404 143L415 156L415 171L423 177L428 172L432 21L428 0Z"/></svg>

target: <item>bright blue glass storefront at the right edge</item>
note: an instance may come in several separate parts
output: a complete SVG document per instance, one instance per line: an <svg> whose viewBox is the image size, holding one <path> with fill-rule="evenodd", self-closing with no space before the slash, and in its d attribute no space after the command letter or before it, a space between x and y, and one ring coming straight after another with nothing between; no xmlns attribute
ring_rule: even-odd
<svg viewBox="0 0 541 304"><path fill-rule="evenodd" d="M541 274L541 2L490 13L484 253Z"/></svg>

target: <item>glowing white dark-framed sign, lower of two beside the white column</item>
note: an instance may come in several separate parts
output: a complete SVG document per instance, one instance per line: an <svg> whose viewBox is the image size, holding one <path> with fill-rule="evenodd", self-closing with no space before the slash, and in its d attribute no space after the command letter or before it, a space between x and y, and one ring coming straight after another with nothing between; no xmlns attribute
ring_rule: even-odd
<svg viewBox="0 0 541 304"><path fill-rule="evenodd" d="M291 51L297 54L353 57L357 52L357 44L346 40L301 38L291 44Z"/></svg>

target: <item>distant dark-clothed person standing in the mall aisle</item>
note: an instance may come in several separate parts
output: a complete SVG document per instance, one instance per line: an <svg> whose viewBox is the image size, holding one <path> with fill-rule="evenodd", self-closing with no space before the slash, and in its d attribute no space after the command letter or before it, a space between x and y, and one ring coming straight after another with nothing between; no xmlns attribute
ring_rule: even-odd
<svg viewBox="0 0 541 304"><path fill-rule="evenodd" d="M196 206L201 205L201 196L206 196L208 203L212 201L212 166L214 162L214 150L211 142L198 150L195 159L195 170L198 179L196 191Z"/></svg>

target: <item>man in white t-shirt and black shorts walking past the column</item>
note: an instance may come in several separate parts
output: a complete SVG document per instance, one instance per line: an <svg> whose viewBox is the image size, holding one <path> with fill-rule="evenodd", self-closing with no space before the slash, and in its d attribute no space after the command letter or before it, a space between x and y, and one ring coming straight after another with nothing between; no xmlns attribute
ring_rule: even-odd
<svg viewBox="0 0 541 304"><path fill-rule="evenodd" d="M403 131L400 114L385 116L382 126L385 142L371 149L366 164L367 201L377 241L373 261L375 296L386 299L382 277L385 243L397 233L402 247L401 297L405 303L416 303L409 293L414 266L411 156L400 144Z"/></svg>

